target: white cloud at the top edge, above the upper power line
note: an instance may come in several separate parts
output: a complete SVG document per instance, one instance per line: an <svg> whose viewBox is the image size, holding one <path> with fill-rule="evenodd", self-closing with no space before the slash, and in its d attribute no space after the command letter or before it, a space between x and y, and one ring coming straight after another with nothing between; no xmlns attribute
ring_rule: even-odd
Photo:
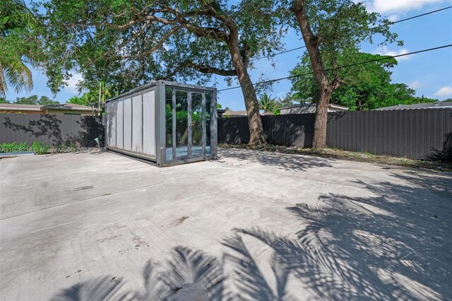
<svg viewBox="0 0 452 301"><path fill-rule="evenodd" d="M379 13L403 13L413 9L420 9L425 5L439 4L444 0L374 0L367 3L369 11Z"/></svg>

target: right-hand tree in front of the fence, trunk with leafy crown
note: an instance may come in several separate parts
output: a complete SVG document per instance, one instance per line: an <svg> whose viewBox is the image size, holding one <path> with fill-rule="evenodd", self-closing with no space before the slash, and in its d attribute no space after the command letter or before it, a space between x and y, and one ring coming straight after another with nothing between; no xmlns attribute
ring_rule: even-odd
<svg viewBox="0 0 452 301"><path fill-rule="evenodd" d="M319 88L313 146L325 148L328 102L343 83L336 69L338 57L347 61L347 54L354 56L362 42L373 42L377 34L380 44L395 42L397 35L389 31L388 20L353 0L287 0L284 5L295 16L290 24L302 33Z"/></svg>

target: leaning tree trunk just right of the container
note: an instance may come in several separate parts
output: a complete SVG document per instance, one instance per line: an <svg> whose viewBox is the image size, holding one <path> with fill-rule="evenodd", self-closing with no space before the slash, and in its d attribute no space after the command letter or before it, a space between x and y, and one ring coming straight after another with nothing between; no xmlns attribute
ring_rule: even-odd
<svg viewBox="0 0 452 301"><path fill-rule="evenodd" d="M253 83L251 82L251 78L249 78L249 73L246 70L246 66L242 60L242 55L240 54L239 37L235 26L231 26L230 28L230 40L228 42L228 47L231 54L232 64L237 71L237 78L239 79L240 88L242 88L245 100L246 115L248 116L249 124L249 144L266 144L256 90L254 90Z"/></svg>

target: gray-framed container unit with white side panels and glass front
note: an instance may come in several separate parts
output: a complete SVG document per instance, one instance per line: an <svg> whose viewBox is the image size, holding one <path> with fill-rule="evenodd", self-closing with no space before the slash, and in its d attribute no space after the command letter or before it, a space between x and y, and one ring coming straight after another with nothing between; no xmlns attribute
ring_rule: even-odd
<svg viewBox="0 0 452 301"><path fill-rule="evenodd" d="M217 157L215 88L154 81L107 100L105 145L157 166Z"/></svg>

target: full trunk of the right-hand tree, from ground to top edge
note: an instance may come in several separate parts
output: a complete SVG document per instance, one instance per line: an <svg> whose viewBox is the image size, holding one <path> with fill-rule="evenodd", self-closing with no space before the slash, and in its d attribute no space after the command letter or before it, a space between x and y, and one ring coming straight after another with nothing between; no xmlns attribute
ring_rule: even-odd
<svg viewBox="0 0 452 301"><path fill-rule="evenodd" d="M325 67L320 55L317 37L312 33L306 15L306 4L304 0L295 0L292 6L292 12L297 18L299 28L302 32L304 44L306 45L311 60L314 78L319 86L319 95L316 105L316 121L314 122L314 139L312 146L314 148L326 148L326 122L328 121L328 103L335 88L339 82L331 83L326 75ZM336 87L337 85L337 87Z"/></svg>

